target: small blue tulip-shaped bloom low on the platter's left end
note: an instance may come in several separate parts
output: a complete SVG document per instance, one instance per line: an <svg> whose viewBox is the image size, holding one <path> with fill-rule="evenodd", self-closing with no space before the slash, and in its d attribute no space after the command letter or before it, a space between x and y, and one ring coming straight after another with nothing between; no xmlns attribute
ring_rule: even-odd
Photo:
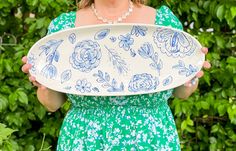
<svg viewBox="0 0 236 151"><path fill-rule="evenodd" d="M42 70L41 74L49 79L54 79L57 76L57 68L53 64L47 64Z"/></svg>

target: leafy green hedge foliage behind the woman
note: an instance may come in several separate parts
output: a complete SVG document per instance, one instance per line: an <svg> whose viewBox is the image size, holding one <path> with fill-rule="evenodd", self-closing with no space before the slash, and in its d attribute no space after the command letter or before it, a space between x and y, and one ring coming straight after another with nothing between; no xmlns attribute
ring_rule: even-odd
<svg viewBox="0 0 236 151"><path fill-rule="evenodd" d="M199 89L186 101L170 101L182 150L235 150L236 1L150 0L148 4L168 5L184 30L209 48L206 58L212 68L205 71ZM53 18L75 9L72 0L0 1L0 36L5 43L0 45L0 150L55 150L68 104L56 113L46 112L20 70L21 58L45 36Z"/></svg>

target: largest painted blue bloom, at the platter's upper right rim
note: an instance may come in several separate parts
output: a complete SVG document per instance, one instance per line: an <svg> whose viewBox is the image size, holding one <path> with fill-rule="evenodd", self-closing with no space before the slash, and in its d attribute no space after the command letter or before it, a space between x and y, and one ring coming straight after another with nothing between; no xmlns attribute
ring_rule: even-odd
<svg viewBox="0 0 236 151"><path fill-rule="evenodd" d="M190 56L197 47L190 36L172 29L158 27L153 34L153 38L161 52L170 57Z"/></svg>

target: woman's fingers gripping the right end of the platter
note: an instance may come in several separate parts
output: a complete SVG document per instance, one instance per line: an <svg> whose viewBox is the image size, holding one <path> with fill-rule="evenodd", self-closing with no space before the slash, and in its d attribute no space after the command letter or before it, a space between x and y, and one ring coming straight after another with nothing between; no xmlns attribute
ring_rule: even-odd
<svg viewBox="0 0 236 151"><path fill-rule="evenodd" d="M201 51L202 51L205 55L207 55L207 53L208 53L208 48L203 47L203 48L201 49ZM203 68L204 68L204 69L209 69L209 68L211 68L210 62L209 62L209 61L205 61L205 62L203 63ZM192 85L196 82L196 79L201 78L203 75L204 75L204 72L203 72L202 70L199 71L199 72L196 74L196 77L195 77L193 80L191 80L191 81L185 83L185 86L192 86Z"/></svg>

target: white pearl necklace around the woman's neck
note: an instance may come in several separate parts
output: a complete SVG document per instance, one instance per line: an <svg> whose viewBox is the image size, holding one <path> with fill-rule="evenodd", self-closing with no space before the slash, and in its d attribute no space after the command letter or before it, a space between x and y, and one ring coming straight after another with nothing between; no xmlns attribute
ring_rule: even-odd
<svg viewBox="0 0 236 151"><path fill-rule="evenodd" d="M92 10L94 15L97 17L98 20L101 20L104 23L108 23L108 24L116 24L119 22L122 22L124 19L126 19L132 12L133 12L133 2L130 0L129 1L129 9L126 13L124 13L123 15L121 15L120 17L118 17L117 20L109 20L107 18L103 18L102 16L99 16L97 9L94 6L94 3L91 5Z"/></svg>

